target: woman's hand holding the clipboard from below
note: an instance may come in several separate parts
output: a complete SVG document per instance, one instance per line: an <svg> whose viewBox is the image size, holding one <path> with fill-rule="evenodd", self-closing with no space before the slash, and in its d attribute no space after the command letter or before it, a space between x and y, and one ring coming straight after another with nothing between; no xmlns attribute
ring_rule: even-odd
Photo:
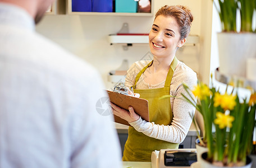
<svg viewBox="0 0 256 168"><path fill-rule="evenodd" d="M127 111L125 109L118 107L112 102L110 102L110 105L112 107L114 115L119 116L120 118L126 120L129 123L135 122L140 118L140 116L134 112L134 109L132 108L132 106L130 106L129 111Z"/></svg>

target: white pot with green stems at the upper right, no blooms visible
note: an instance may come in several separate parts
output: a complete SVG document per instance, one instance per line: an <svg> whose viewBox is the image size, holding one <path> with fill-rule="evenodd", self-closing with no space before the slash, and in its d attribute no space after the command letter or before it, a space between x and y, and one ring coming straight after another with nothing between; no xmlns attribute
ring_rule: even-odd
<svg viewBox="0 0 256 168"><path fill-rule="evenodd" d="M256 33L253 28L256 0L212 1L222 29L217 34L220 72L227 76L246 77L246 59L256 59Z"/></svg>

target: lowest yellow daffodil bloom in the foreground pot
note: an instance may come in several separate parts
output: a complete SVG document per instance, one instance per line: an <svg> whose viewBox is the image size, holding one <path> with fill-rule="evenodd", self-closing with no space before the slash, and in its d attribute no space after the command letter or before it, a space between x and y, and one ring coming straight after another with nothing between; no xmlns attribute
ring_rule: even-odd
<svg viewBox="0 0 256 168"><path fill-rule="evenodd" d="M225 115L224 113L217 112L216 113L217 118L214 119L214 123L219 125L220 129L223 129L225 127L231 128L232 122L235 120L234 116Z"/></svg>

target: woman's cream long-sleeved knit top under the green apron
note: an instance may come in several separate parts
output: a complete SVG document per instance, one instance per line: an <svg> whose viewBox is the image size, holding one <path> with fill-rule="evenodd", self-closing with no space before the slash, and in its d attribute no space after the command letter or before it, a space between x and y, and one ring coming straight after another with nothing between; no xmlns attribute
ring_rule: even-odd
<svg viewBox="0 0 256 168"><path fill-rule="evenodd" d="M137 74L143 69L150 60L139 60L132 64L132 66L127 71L125 85L131 87L135 83L135 78ZM161 88L164 87L165 80L159 82L156 85L149 85L149 83L144 81L144 76L141 75L139 81L137 82L137 89L151 89L151 88ZM142 132L145 135L161 139L163 141L168 141L172 143L181 143L186 138L189 132L190 125L195 114L195 107L189 102L181 100L181 94L189 97L185 91L182 83L185 83L190 89L193 89L197 83L196 73L186 66L182 62L178 62L175 71L173 72L172 81L170 85L170 95L176 96L177 98L171 97L171 109L173 113L173 119L171 125L159 125L154 122L146 122L141 118L135 122L130 123L138 132ZM190 95L193 95L190 92ZM194 97L195 99L195 97ZM196 99L195 99L196 101ZM136 111L135 111L136 112Z"/></svg>

